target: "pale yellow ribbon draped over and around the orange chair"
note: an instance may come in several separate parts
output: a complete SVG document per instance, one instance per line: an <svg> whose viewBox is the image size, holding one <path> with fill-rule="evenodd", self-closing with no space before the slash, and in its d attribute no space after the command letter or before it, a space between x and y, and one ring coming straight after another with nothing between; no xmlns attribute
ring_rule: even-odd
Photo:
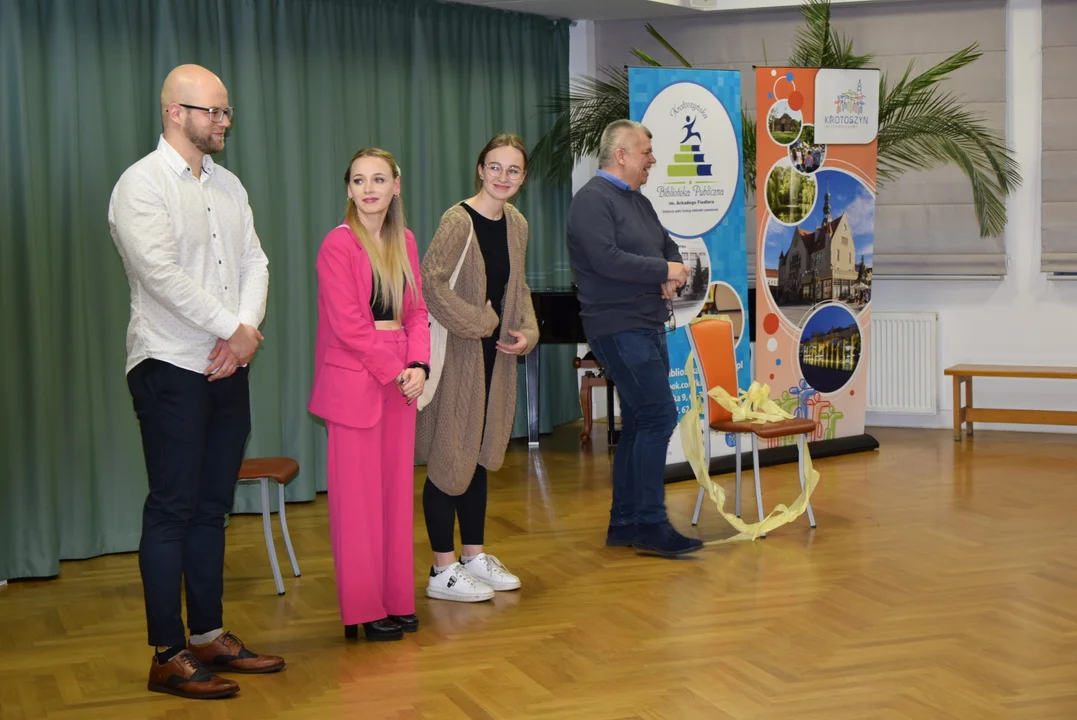
<svg viewBox="0 0 1077 720"><path fill-rule="evenodd" d="M779 504L770 511L766 518L756 523L745 523L731 512L727 512L726 493L713 480L711 480L710 468L707 465L707 455L703 449L703 428L699 422L703 411L702 398L696 395L696 357L689 352L688 362L685 364L684 372L688 378L688 397L691 398L691 406L688 412L681 418L679 423L681 428L681 444L684 448L685 457L696 475L696 480L700 486L707 490L711 499L718 508L718 514L738 531L737 535L721 540L709 540L704 545L722 545L724 542L736 542L739 540L754 540L760 535L766 535L775 527L781 527L799 518L808 508L808 500L811 498L815 485L819 483L819 471L812 467L811 453L808 451L808 443L805 442L805 486L800 491L800 496L793 502L793 505L785 506ZM793 415L779 407L770 399L770 387L759 382L741 392L736 398L731 397L722 387L712 387L708 393L714 401L728 410L733 415L735 422L751 423L773 423L782 420L789 420ZM708 430L708 441L710 430Z"/></svg>

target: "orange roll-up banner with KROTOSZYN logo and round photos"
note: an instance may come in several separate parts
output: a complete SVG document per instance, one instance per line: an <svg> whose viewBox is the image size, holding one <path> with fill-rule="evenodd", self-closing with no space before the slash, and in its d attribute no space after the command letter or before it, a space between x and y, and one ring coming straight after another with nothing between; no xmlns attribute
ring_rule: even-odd
<svg viewBox="0 0 1077 720"><path fill-rule="evenodd" d="M864 433L879 71L756 68L755 377L810 440ZM795 443L768 440L767 447Z"/></svg>

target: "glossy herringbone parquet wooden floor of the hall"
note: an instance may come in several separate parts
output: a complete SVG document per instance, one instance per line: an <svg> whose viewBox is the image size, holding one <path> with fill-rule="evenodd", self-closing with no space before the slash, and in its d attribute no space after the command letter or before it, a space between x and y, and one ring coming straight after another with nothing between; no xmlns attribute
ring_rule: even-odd
<svg viewBox="0 0 1077 720"><path fill-rule="evenodd" d="M610 457L578 427L515 444L490 478L488 547L523 588L464 605L421 594L419 633L346 643L324 496L289 506L302 578L277 596L258 517L228 530L225 616L288 669L212 702L149 693L134 554L0 589L0 716L557 720L1077 718L1077 438L878 429L817 461L819 528L686 560L603 546ZM421 488L417 474L416 488ZM797 494L765 468L767 508ZM723 478L731 491L732 477ZM744 507L753 508L751 483ZM681 527L695 482L668 485ZM747 510L754 519L754 510ZM731 534L713 506L705 538ZM282 568L288 567L278 540Z"/></svg>

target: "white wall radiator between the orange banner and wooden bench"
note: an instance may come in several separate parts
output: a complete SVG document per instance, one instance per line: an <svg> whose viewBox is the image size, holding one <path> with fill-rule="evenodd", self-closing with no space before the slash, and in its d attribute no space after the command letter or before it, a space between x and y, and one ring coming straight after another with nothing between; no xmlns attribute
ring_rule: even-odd
<svg viewBox="0 0 1077 720"><path fill-rule="evenodd" d="M938 411L938 313L872 312L868 412Z"/></svg>

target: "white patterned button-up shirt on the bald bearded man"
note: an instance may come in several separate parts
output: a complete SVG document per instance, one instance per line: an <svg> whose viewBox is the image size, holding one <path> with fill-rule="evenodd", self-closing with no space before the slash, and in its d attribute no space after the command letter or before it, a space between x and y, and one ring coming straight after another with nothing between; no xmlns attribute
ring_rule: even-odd
<svg viewBox="0 0 1077 720"><path fill-rule="evenodd" d="M262 323L269 263L247 190L208 155L195 178L162 136L116 182L109 226L131 293L125 372L152 357L200 373L218 338Z"/></svg>

